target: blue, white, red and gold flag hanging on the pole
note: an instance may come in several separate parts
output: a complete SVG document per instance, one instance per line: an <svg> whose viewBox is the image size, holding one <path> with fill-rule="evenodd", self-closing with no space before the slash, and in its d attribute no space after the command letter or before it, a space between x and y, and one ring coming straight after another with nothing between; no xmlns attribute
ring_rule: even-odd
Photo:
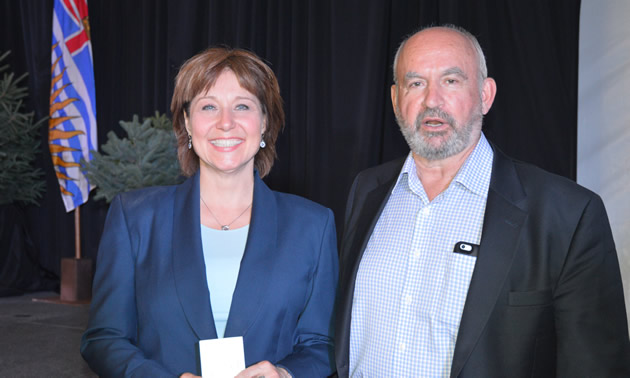
<svg viewBox="0 0 630 378"><path fill-rule="evenodd" d="M81 158L96 150L96 100L87 0L55 0L48 147L66 211L88 199Z"/></svg>

